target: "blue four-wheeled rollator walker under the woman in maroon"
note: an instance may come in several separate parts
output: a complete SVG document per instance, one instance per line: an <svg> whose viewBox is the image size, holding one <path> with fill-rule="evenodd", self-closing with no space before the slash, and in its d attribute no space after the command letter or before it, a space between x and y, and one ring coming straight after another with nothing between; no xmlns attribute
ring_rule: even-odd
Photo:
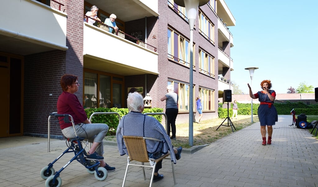
<svg viewBox="0 0 318 187"><path fill-rule="evenodd" d="M59 120L58 117L63 117L62 120ZM51 119L52 118L52 119ZM71 120L71 121L70 121ZM100 162L98 160L89 160L86 158L85 148L82 146L82 141L84 137L78 137L73 117L69 114L57 114L52 113L49 116L48 122L54 124L59 124L59 121L64 121L65 123L72 123L76 137L68 138L66 140L67 149L58 156L52 163L49 163L45 166L40 173L40 176L45 179L45 187L59 187L62 185L62 179L59 177L60 173L74 160L77 160L83 166L85 166L88 173L95 175L97 180L103 181L107 178L107 170L104 167L99 167ZM61 158L66 153L74 153L74 157L66 163L59 171L55 172L53 169L53 164L56 163L59 158Z"/></svg>

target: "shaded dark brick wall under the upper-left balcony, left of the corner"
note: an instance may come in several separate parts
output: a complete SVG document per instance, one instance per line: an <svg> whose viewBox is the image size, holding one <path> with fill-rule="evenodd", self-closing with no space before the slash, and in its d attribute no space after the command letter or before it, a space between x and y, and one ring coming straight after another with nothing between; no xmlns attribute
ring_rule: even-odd
<svg viewBox="0 0 318 187"><path fill-rule="evenodd" d="M24 57L24 135L47 135L49 114L56 112L62 92L59 80L65 56L66 52L54 50ZM52 125L51 135L62 135L59 126Z"/></svg>

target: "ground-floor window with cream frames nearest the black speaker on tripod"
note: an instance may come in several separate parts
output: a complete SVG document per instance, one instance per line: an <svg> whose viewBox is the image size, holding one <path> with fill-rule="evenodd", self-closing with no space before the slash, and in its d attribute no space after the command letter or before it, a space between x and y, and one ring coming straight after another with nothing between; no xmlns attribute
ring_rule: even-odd
<svg viewBox="0 0 318 187"><path fill-rule="evenodd" d="M215 110L214 90L199 87L199 96L201 98L202 110Z"/></svg>

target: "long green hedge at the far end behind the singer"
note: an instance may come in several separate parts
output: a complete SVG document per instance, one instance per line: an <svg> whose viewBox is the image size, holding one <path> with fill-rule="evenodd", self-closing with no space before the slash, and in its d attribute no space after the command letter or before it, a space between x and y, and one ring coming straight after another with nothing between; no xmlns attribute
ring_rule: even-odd
<svg viewBox="0 0 318 187"><path fill-rule="evenodd" d="M251 115L251 103L237 103L238 105L238 115ZM290 111L292 109L295 110L296 115L306 114L306 115L318 115L318 104L315 105L307 105L304 102L290 102L286 101L284 103L275 103L274 104L278 115L290 115ZM229 116L232 117L233 104L231 103L231 107L229 106ZM253 115L257 115L257 109L259 104L253 103ZM218 117L226 118L227 117L227 108L218 108Z"/></svg>

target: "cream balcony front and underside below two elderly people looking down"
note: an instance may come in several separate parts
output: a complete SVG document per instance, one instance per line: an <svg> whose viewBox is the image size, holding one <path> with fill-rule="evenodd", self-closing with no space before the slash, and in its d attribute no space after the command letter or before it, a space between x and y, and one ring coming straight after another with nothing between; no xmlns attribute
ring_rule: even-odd
<svg viewBox="0 0 318 187"><path fill-rule="evenodd" d="M84 68L118 75L159 74L158 53L84 22Z"/></svg>

